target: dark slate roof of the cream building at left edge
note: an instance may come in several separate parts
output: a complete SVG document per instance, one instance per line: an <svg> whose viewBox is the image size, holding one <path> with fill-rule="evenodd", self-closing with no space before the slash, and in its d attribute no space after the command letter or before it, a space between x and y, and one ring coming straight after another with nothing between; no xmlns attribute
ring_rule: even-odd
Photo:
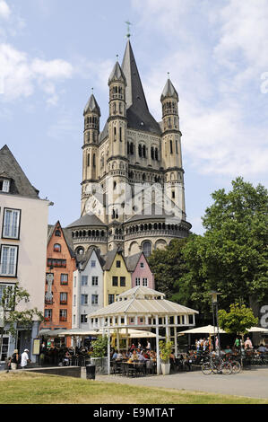
<svg viewBox="0 0 268 422"><path fill-rule="evenodd" d="M39 198L39 190L30 184L30 180L27 179L7 145L0 149L0 173L3 177L11 179L9 193L27 198Z"/></svg>

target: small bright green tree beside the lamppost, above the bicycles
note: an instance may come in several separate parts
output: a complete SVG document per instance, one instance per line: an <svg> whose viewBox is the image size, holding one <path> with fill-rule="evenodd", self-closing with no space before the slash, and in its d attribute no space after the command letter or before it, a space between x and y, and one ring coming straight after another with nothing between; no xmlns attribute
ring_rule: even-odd
<svg viewBox="0 0 268 422"><path fill-rule="evenodd" d="M244 335L246 330L254 327L258 323L251 308L246 308L243 303L232 303L229 312L224 309L219 310L219 325L222 330L229 333Z"/></svg>

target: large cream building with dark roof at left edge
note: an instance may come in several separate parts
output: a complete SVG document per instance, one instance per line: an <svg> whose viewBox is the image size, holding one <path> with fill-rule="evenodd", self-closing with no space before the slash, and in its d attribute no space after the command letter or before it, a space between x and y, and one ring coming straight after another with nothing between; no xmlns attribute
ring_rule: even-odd
<svg viewBox="0 0 268 422"><path fill-rule="evenodd" d="M44 310L49 201L39 198L13 154L4 145L0 149L0 297L5 286L17 283L29 294L29 302L19 303L16 311ZM17 336L4 334L1 361L18 348L26 347L32 355L33 339L39 322L27 329L17 325Z"/></svg>

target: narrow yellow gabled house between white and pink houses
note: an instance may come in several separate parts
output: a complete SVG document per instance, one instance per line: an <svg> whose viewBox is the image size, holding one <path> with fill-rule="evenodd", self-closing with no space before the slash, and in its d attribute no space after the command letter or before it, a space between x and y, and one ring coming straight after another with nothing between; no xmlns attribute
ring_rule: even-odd
<svg viewBox="0 0 268 422"><path fill-rule="evenodd" d="M117 295L131 289L131 273L128 271L120 249L109 251L103 267L103 306L114 303Z"/></svg>

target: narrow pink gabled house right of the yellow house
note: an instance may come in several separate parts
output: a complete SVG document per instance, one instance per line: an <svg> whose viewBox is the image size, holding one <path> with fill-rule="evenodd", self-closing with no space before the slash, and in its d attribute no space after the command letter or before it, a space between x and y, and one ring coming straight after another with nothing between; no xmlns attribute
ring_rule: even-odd
<svg viewBox="0 0 268 422"><path fill-rule="evenodd" d="M143 252L127 257L126 265L131 274L132 287L144 286L154 289L154 276Z"/></svg>

